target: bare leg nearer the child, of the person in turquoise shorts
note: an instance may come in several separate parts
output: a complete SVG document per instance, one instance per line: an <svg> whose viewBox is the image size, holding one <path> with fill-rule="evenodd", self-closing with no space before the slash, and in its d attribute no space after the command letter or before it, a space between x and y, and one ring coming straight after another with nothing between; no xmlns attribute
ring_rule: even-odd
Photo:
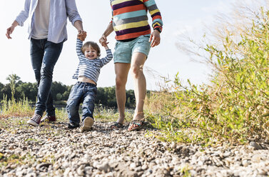
<svg viewBox="0 0 269 177"><path fill-rule="evenodd" d="M118 121L123 123L125 118L125 103L126 103L126 82L130 64L115 63L116 74L116 99L118 105Z"/></svg>

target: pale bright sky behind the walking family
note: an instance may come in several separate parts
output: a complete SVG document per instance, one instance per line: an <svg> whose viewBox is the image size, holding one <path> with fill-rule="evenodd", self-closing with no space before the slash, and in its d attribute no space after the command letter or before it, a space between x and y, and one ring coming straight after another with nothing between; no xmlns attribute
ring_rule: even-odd
<svg viewBox="0 0 269 177"><path fill-rule="evenodd" d="M208 82L210 69L193 60L176 44L181 35L188 35L193 39L202 38L205 26L212 25L219 13L227 13L232 9L235 0L155 0L163 18L163 32L161 44L152 48L144 66L148 90L158 90L163 84L160 76L168 77L173 81L177 73L183 83L190 79L193 84ZM96 41L101 37L111 20L111 6L109 1L77 0L78 12L83 19L83 29L87 31L86 41ZM24 26L17 26L12 39L6 38L6 29L11 26L16 16L24 8L24 1L4 1L0 6L1 20L0 41L0 82L8 83L6 77L16 74L24 82L35 82L34 71L31 68L29 53L29 39L27 34L28 20ZM149 17L151 24L151 17ZM63 84L75 84L72 79L78 65L76 56L76 29L68 21L68 41L64 42L61 56L54 67L53 81ZM108 47L114 51L115 34L108 36ZM105 49L101 47L101 57L105 56ZM115 72L113 61L103 66L98 79L99 87L114 86ZM133 79L128 76L126 89L133 89Z"/></svg>

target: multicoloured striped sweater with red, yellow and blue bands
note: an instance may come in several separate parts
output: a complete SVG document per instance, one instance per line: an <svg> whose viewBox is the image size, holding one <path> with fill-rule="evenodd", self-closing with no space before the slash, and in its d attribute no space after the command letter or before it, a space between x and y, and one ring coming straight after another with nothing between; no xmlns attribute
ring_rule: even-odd
<svg viewBox="0 0 269 177"><path fill-rule="evenodd" d="M151 34L147 11L151 14L153 29L162 29L163 21L154 0L110 0L113 29L117 40Z"/></svg>

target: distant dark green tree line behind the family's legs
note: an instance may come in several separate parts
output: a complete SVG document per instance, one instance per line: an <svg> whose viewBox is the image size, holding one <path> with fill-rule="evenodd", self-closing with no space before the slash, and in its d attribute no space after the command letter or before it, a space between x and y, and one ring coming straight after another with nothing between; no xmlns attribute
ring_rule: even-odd
<svg viewBox="0 0 269 177"><path fill-rule="evenodd" d="M0 101L6 96L9 100L14 95L15 100L28 98L29 101L35 102L37 96L37 84L31 82L23 82L16 74L9 75L6 80L9 84L0 83ZM66 86L61 82L54 81L51 85L51 93L55 101L67 101L69 93L73 85ZM98 87L96 104L102 104L108 107L117 107L115 86ZM135 107L136 101L133 90L126 91L126 107Z"/></svg>

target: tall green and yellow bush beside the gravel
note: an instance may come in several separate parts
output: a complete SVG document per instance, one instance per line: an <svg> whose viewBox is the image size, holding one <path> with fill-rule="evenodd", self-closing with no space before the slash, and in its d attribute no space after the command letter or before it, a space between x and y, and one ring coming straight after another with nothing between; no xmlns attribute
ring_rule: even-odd
<svg viewBox="0 0 269 177"><path fill-rule="evenodd" d="M162 109L169 118L161 116L156 121L156 126L165 130L166 139L207 144L245 143L250 138L268 141L268 21L269 12L261 10L252 28L240 33L240 40L230 34L221 40L221 46L208 44L204 48L215 66L212 84L195 86L188 81L189 86L183 86L176 76L174 106L169 106L171 98L162 98L163 104L168 103Z"/></svg>

